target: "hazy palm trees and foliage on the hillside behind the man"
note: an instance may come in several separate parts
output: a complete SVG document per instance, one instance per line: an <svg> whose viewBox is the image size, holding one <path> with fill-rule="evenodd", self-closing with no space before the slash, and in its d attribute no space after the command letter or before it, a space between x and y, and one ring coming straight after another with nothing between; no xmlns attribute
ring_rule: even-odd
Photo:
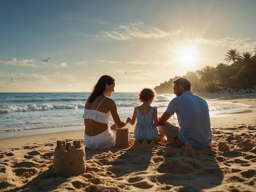
<svg viewBox="0 0 256 192"><path fill-rule="evenodd" d="M191 81L193 92L218 92L227 88L247 89L256 85L256 46L253 52L240 54L231 49L225 56L227 64L219 63L216 67L209 65L195 72L189 71L185 76ZM231 62L230 65L228 63ZM157 93L173 93L173 80L175 77L161 83L154 89Z"/></svg>

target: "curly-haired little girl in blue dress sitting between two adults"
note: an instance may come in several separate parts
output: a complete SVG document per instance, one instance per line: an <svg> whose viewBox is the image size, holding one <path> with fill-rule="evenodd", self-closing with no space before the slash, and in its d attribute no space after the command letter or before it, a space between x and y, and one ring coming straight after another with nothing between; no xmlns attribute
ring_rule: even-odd
<svg viewBox="0 0 256 192"><path fill-rule="evenodd" d="M133 112L131 125L135 124L136 118L137 123L134 129L134 137L137 141L155 141L158 142L162 138L159 135L157 126L157 107L151 107L151 103L155 100L156 94L152 89L144 88L138 96L140 106L135 107Z"/></svg>

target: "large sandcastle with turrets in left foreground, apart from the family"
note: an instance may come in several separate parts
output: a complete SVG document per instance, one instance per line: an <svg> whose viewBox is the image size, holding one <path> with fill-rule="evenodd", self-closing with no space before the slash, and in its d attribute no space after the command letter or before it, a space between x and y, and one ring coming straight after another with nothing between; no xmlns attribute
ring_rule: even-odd
<svg viewBox="0 0 256 192"><path fill-rule="evenodd" d="M85 150L81 147L81 141L73 141L71 145L70 142L58 140L52 171L60 176L77 176L85 170Z"/></svg>

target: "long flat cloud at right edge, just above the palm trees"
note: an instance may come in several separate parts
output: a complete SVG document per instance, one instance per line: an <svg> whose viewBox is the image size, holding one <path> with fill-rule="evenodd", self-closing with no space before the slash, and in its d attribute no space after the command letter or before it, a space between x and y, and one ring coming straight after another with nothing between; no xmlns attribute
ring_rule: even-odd
<svg viewBox="0 0 256 192"><path fill-rule="evenodd" d="M204 38L195 38L191 40L198 44L207 44L220 47L229 47L231 49L238 48L253 48L256 45L256 41L251 38L244 39L235 39L235 38L222 38L222 39L204 39Z"/></svg>

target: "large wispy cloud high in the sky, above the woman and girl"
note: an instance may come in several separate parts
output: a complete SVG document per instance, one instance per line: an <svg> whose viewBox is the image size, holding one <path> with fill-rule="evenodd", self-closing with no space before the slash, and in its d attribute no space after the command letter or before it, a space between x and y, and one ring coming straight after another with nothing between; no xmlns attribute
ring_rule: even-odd
<svg viewBox="0 0 256 192"><path fill-rule="evenodd" d="M165 32L156 27L146 27L144 22L129 23L128 25L118 25L114 31L101 31L102 36L116 40L130 39L159 39L168 36L177 36L180 30L171 33Z"/></svg>

